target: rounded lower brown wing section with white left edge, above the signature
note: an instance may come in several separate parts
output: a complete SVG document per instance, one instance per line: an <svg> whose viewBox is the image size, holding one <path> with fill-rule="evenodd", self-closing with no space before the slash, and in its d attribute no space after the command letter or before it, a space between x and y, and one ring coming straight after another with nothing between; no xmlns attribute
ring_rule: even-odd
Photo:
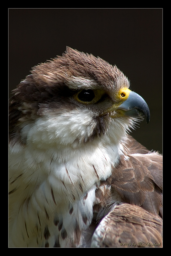
<svg viewBox="0 0 171 256"><path fill-rule="evenodd" d="M118 205L99 223L91 246L162 247L162 220L141 207Z"/></svg>

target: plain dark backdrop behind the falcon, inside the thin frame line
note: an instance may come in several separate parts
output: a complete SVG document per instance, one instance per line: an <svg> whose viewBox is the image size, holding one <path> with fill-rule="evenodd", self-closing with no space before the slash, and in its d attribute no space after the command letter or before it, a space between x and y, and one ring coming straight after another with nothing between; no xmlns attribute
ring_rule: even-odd
<svg viewBox="0 0 171 256"><path fill-rule="evenodd" d="M66 46L99 56L131 81L151 119L132 135L162 153L162 9L9 9L9 93Z"/></svg>

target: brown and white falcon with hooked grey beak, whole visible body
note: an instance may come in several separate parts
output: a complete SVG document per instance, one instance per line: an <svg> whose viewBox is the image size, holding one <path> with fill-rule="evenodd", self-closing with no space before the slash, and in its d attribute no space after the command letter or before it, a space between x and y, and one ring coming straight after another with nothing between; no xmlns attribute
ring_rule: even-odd
<svg viewBox="0 0 171 256"><path fill-rule="evenodd" d="M162 247L162 156L129 135L150 112L127 77L66 48L9 106L9 247Z"/></svg>

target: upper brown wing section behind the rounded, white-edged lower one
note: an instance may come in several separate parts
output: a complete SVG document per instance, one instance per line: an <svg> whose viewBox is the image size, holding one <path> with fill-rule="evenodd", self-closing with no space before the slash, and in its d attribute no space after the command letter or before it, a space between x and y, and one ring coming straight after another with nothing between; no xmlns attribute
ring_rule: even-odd
<svg viewBox="0 0 171 256"><path fill-rule="evenodd" d="M108 182L123 200L162 215L162 156L158 153L121 157Z"/></svg>

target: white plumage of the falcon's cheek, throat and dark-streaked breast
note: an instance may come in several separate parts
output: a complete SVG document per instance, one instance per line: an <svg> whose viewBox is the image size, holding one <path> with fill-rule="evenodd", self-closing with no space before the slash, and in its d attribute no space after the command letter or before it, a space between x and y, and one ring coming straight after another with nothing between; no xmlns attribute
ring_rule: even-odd
<svg viewBox="0 0 171 256"><path fill-rule="evenodd" d="M13 237L11 246L27 246L28 243L29 246L36 246L37 230L41 230L41 234L46 223L50 234L54 234L49 239L50 246L53 246L55 237L62 232L53 224L56 215L62 219L63 230L70 237L73 236L75 223L80 230L91 223L95 190L100 180L111 175L111 166L117 164L122 149L111 141L110 145L103 144L99 138L76 147L74 141L90 132L91 125L87 128L88 123L86 115L79 116L78 113L77 119L67 114L63 114L62 118L38 118L34 124L22 129L22 139L27 147L17 143L10 147L10 190L17 188L14 193L17 207L10 226ZM69 214L69 207L73 207L72 214ZM17 209L20 209L19 213ZM22 235L17 237L15 233ZM30 236L33 236L31 242ZM44 246L45 242L41 240L40 243ZM60 241L61 246L67 246L66 243L67 240Z"/></svg>

